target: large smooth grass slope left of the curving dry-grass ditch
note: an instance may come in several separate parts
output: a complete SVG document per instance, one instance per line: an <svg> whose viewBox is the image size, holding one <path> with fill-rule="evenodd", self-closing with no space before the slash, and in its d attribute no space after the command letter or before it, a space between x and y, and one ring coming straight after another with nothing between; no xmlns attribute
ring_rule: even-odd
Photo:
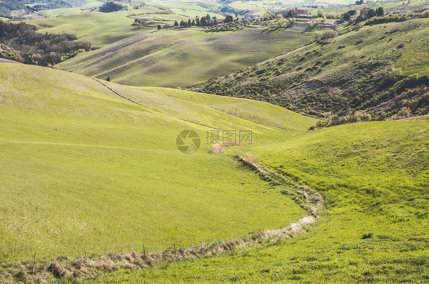
<svg viewBox="0 0 429 284"><path fill-rule="evenodd" d="M1 261L34 251L76 256L83 247L96 255L143 244L160 251L305 215L204 144L209 127L252 130L261 145L305 131L313 118L262 102L105 82L155 111L90 78L34 66L0 64L0 78ZM283 119L273 126L276 117ZM195 154L176 148L185 129L202 138Z"/></svg>

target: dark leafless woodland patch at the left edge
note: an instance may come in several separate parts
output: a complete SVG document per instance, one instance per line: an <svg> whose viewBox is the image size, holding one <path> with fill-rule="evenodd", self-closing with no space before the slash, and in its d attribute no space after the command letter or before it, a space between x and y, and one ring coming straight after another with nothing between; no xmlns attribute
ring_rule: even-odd
<svg viewBox="0 0 429 284"><path fill-rule="evenodd" d="M36 30L36 26L24 22L14 24L0 20L0 58L50 66L91 50L91 43L76 41L74 34L38 33Z"/></svg>

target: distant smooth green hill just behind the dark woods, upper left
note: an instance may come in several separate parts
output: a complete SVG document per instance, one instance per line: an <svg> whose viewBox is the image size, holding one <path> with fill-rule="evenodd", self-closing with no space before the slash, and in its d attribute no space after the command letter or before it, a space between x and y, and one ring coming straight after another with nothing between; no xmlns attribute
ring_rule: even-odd
<svg viewBox="0 0 429 284"><path fill-rule="evenodd" d="M202 8L205 10L204 8ZM77 12L78 11L78 12ZM221 18L222 15L210 13ZM79 40L90 41L93 47L103 47L118 40L139 34L144 31L156 30L156 25L133 25L136 17L145 17L159 23L173 25L174 21L188 21L190 17L207 15L206 11L176 9L169 12L160 7L141 6L110 13L90 12L77 8L46 10L30 15L33 20L26 22L40 28L41 33L73 33ZM45 18L48 17L48 18Z"/></svg>

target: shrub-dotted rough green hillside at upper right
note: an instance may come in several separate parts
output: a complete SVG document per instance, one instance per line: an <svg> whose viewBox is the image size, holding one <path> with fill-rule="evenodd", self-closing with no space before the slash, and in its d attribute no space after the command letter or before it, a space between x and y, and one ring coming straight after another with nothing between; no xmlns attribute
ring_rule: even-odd
<svg viewBox="0 0 429 284"><path fill-rule="evenodd" d="M429 86L428 77L422 77L429 75L427 46L428 18L368 25L189 89L268 101L313 115L347 113L377 106L407 88Z"/></svg>

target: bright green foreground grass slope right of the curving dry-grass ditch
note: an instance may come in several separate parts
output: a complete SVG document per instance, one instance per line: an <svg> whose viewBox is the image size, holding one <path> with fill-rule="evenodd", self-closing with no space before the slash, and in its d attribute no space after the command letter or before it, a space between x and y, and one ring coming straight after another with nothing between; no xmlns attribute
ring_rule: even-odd
<svg viewBox="0 0 429 284"><path fill-rule="evenodd" d="M263 164L323 194L314 228L267 247L97 281L427 283L428 129L428 119L361 122L255 147Z"/></svg>

